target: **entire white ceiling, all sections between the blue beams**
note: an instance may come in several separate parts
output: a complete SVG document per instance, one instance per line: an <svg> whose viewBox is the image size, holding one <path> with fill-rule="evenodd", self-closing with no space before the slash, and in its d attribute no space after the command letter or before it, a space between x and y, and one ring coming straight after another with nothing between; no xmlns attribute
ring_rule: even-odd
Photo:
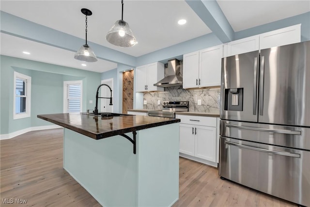
<svg viewBox="0 0 310 207"><path fill-rule="evenodd" d="M310 11L309 0L217 0L217 3L235 32ZM88 17L88 41L135 57L212 32L184 0L124 0L124 20L138 44L119 48L109 44L105 35L121 18L120 0L0 1L1 11L84 39L85 16L81 8L93 12ZM181 18L187 20L186 25L177 24ZM31 50L31 55L25 56L24 50ZM74 52L3 33L1 54L96 72L117 67L103 60L81 66L82 62L73 58Z"/></svg>

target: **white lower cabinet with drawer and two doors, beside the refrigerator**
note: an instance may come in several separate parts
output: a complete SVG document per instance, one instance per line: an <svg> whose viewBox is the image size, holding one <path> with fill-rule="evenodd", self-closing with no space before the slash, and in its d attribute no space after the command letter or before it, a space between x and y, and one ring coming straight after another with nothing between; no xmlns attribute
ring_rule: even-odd
<svg viewBox="0 0 310 207"><path fill-rule="evenodd" d="M180 123L180 156L217 167L217 118L177 115Z"/></svg>

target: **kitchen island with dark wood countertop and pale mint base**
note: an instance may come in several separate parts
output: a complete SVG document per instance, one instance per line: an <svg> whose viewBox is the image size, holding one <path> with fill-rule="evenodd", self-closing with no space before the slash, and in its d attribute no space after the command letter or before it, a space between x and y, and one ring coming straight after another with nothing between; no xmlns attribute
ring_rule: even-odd
<svg viewBox="0 0 310 207"><path fill-rule="evenodd" d="M38 115L64 127L63 168L102 206L172 206L179 197L179 119Z"/></svg>

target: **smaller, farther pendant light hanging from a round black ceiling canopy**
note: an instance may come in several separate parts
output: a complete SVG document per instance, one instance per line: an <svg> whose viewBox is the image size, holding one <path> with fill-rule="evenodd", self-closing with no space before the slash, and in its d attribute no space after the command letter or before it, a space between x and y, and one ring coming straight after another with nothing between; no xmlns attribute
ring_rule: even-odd
<svg viewBox="0 0 310 207"><path fill-rule="evenodd" d="M93 52L93 49L87 45L87 16L91 16L93 13L91 12L91 10L85 9L85 8L81 9L81 12L86 16L86 20L85 20L86 22L86 29L85 29L86 43L85 45L83 45L82 47L78 49L77 53L74 55L74 58L80 61L96 62L97 57L95 53Z"/></svg>

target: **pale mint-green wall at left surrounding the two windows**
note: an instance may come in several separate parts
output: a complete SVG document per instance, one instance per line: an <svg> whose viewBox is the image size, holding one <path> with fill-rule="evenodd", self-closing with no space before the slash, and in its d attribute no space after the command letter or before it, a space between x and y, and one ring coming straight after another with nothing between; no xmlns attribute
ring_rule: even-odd
<svg viewBox="0 0 310 207"><path fill-rule="evenodd" d="M25 59L0 56L0 134L9 134L29 127L50 125L36 118L37 114L62 113L63 81L83 80L83 111L94 109L95 89L100 73L45 64ZM14 71L31 76L31 117L13 120Z"/></svg>

